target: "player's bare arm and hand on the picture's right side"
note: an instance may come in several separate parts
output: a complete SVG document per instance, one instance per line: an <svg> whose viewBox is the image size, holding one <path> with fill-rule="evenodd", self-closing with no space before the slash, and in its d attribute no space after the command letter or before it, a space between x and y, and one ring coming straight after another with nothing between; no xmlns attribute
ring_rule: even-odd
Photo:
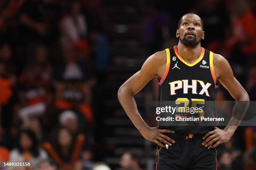
<svg viewBox="0 0 256 170"><path fill-rule="evenodd" d="M214 130L204 135L203 140L205 141L202 143L202 145L205 147L211 146L211 148L215 148L216 146L220 145L220 143L228 142L230 140L243 119L249 105L249 102L240 102L249 101L249 96L246 90L244 90L243 86L234 77L228 61L223 56L214 54L213 68L215 77L228 90L230 95L236 99L236 104L233 108L230 122L224 130L215 127ZM239 115L239 119L235 118L234 115ZM215 144L212 145L214 142Z"/></svg>

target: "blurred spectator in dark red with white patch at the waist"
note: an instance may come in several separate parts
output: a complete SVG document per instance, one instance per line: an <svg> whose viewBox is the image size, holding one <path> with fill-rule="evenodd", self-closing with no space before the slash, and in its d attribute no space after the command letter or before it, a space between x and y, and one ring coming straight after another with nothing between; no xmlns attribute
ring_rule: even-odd
<svg viewBox="0 0 256 170"><path fill-rule="evenodd" d="M23 120L44 114L52 101L53 86L47 49L42 45L34 48L32 61L23 70L19 81L19 116Z"/></svg>

